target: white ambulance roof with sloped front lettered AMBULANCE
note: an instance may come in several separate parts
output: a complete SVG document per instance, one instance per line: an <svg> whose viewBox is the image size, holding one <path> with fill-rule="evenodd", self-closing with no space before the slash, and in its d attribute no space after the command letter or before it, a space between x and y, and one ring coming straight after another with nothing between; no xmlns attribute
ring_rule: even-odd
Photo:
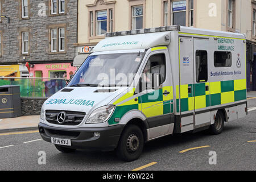
<svg viewBox="0 0 256 182"><path fill-rule="evenodd" d="M156 46L168 46L171 41L171 31L179 31L180 34L191 34L195 36L245 39L245 35L232 32L183 26L167 26L106 33L105 39L101 40L101 42L94 47L93 52L122 49L148 49Z"/></svg>

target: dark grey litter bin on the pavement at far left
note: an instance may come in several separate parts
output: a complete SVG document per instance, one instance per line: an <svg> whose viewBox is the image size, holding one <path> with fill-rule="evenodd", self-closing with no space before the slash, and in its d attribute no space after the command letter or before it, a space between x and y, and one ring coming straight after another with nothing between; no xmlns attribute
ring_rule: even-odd
<svg viewBox="0 0 256 182"><path fill-rule="evenodd" d="M19 86L0 86L0 118L15 118L22 115Z"/></svg>

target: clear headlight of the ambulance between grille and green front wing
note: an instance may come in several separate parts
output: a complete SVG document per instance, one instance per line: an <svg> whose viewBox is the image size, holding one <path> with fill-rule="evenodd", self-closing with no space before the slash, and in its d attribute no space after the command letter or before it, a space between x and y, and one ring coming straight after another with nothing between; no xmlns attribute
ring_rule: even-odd
<svg viewBox="0 0 256 182"><path fill-rule="evenodd" d="M95 109L92 114L90 114L89 118L86 121L86 124L106 122L110 118L114 110L115 106L113 105L99 107L98 109Z"/></svg>

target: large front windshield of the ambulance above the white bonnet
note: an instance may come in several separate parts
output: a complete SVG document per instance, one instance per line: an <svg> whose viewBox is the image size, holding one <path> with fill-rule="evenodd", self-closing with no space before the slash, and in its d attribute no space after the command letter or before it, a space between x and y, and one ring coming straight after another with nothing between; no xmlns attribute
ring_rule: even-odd
<svg viewBox="0 0 256 182"><path fill-rule="evenodd" d="M144 53L114 53L87 57L68 86L129 86Z"/></svg>

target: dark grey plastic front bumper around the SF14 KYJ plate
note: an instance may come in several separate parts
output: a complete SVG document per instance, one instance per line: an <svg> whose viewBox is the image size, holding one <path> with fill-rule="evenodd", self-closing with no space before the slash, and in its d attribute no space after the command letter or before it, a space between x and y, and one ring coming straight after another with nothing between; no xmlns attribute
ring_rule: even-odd
<svg viewBox="0 0 256 182"><path fill-rule="evenodd" d="M64 146L76 149L111 151L117 147L123 125L115 125L101 128L77 128L64 129L60 127L48 126L39 123L38 128L43 140L51 142L51 137L71 139L71 146ZM100 133L100 137L94 137L94 132Z"/></svg>

